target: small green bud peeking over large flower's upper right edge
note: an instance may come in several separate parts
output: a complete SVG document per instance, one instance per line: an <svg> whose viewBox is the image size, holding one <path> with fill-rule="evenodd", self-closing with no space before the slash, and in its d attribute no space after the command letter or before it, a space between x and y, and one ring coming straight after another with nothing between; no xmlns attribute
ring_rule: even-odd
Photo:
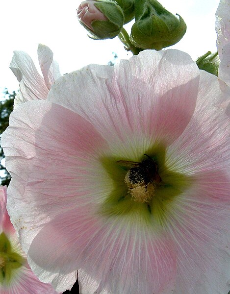
<svg viewBox="0 0 230 294"><path fill-rule="evenodd" d="M220 58L217 52L211 53L211 51L208 51L206 54L197 59L196 64L200 70L218 76Z"/></svg>

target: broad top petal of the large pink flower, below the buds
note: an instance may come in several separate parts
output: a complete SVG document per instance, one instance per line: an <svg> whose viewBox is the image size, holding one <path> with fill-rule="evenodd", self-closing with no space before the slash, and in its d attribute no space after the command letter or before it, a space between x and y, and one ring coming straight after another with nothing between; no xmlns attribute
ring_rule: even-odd
<svg viewBox="0 0 230 294"><path fill-rule="evenodd" d="M198 83L198 68L187 54L145 50L115 67L90 65L64 75L48 100L87 119L114 152L122 142L130 157L137 141L146 149L157 140L171 144L181 134L193 114Z"/></svg>

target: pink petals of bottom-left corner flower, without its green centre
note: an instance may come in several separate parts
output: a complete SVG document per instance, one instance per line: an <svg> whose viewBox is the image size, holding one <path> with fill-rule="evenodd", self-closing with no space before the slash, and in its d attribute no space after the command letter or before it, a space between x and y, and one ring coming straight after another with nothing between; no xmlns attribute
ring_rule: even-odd
<svg viewBox="0 0 230 294"><path fill-rule="evenodd" d="M25 263L11 272L9 283L0 281L1 294L57 294L51 284L38 280L26 262L26 255L18 242L15 229L6 210L6 186L0 186L0 234L3 232L10 242L12 251L22 256ZM1 244L0 244L1 245ZM1 251L0 251L1 257ZM0 268L0 271L2 269Z"/></svg>

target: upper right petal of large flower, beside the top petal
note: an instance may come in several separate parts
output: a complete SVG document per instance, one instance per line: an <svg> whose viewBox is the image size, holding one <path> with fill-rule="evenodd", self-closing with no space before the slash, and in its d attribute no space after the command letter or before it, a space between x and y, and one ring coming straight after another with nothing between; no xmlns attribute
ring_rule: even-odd
<svg viewBox="0 0 230 294"><path fill-rule="evenodd" d="M168 148L166 164L174 171L198 175L220 171L223 185L229 181L230 119L225 114L228 97L219 89L218 78L201 71L194 116L174 144ZM227 190L228 191L228 190ZM229 198L226 192L224 198Z"/></svg>

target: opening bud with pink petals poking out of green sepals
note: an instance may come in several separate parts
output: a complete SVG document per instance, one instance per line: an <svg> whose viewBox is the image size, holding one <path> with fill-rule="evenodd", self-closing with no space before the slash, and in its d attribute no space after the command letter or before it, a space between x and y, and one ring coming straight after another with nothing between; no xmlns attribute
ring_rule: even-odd
<svg viewBox="0 0 230 294"><path fill-rule="evenodd" d="M80 23L96 40L116 37L124 25L124 13L116 2L86 0L77 9Z"/></svg>

